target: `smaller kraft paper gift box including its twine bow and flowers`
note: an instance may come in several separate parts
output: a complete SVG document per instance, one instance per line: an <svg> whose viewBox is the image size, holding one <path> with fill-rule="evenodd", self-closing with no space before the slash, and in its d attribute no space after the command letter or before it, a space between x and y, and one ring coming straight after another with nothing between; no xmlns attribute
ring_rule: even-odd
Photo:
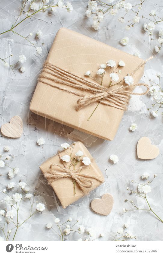
<svg viewBox="0 0 163 256"><path fill-rule="evenodd" d="M42 163L40 169L63 208L104 182L102 172L79 141L70 146L65 144L65 149Z"/></svg>

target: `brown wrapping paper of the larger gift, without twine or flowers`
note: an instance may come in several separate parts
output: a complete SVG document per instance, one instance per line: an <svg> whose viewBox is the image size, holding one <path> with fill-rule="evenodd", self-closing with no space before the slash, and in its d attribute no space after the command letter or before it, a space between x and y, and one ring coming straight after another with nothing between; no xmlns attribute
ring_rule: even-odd
<svg viewBox="0 0 163 256"><path fill-rule="evenodd" d="M109 59L115 60L117 65L120 60L125 62L125 67L120 68L119 80L122 80L127 74L132 74L143 62L141 58L66 28L61 28L57 32L47 62L88 79L88 81L95 82L94 78L85 77L85 72L90 70L92 76L100 77L96 74L97 69L100 64L106 63ZM144 67L137 70L133 76L134 84L139 82L143 73ZM48 76L50 79L52 78L51 74ZM110 81L109 72L104 76L103 86L108 87L108 81ZM53 87L53 83L58 86L58 82L55 83L51 80L48 85L38 81L30 104L32 112L96 137L106 140L114 139L124 110L99 104L88 121L97 102L76 111L76 104L80 97ZM62 86L60 85L60 87ZM73 90L76 89L73 88Z"/></svg>

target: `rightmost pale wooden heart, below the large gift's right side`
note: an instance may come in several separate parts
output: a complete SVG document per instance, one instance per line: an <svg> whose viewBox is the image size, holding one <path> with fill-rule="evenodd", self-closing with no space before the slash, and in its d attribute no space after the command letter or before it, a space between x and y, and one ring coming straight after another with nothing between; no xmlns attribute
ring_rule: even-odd
<svg viewBox="0 0 163 256"><path fill-rule="evenodd" d="M137 143L137 156L141 159L154 159L159 154L159 148L151 144L148 137L142 137Z"/></svg>

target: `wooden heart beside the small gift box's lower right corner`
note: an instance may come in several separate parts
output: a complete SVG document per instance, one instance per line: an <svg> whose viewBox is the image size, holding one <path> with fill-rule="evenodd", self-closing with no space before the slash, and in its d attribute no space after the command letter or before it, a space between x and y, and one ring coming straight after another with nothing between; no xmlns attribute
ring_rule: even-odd
<svg viewBox="0 0 163 256"><path fill-rule="evenodd" d="M109 215L114 203L113 196L109 193L104 194L102 198L96 198L91 201L91 208L94 212L101 215Z"/></svg>

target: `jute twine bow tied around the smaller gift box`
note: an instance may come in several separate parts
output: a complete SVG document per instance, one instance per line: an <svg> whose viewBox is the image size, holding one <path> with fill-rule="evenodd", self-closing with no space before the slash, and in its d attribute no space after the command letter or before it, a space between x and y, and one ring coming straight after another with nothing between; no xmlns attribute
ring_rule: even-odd
<svg viewBox="0 0 163 256"><path fill-rule="evenodd" d="M58 153L59 158L61 160L60 153ZM45 172L44 176L48 179L48 183L51 184L55 180L62 179L62 178L71 178L74 182L77 182L81 191L86 193L88 188L91 188L93 186L93 181L96 179L100 183L103 183L102 177L96 177L94 175L88 175L81 173L81 170L85 168L86 166L81 166L80 168L73 170L69 169L64 162L63 166L60 164L51 164L49 169L50 173ZM60 168L60 171L53 169L54 166L57 166Z"/></svg>

